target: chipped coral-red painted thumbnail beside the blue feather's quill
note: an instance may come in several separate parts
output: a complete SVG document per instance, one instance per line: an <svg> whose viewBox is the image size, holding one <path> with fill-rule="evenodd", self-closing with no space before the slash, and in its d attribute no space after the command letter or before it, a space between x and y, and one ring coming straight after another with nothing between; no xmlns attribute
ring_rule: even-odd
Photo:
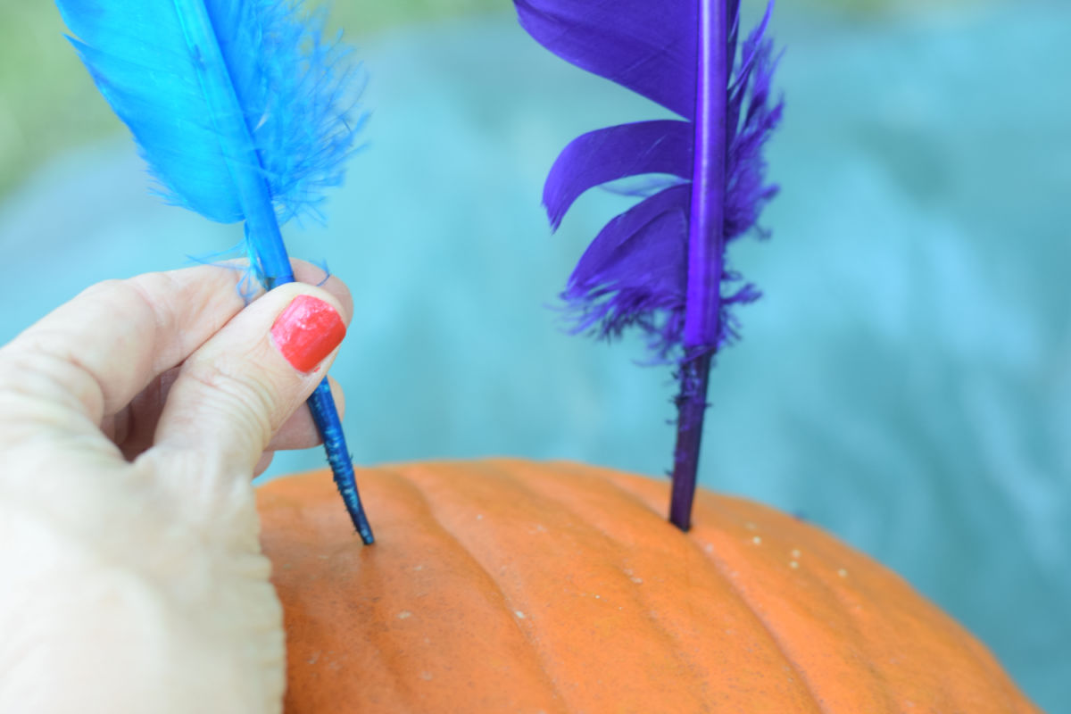
<svg viewBox="0 0 1071 714"><path fill-rule="evenodd" d="M275 318L271 336L295 369L312 371L338 347L346 336L346 324L329 303L312 295L298 295Z"/></svg>

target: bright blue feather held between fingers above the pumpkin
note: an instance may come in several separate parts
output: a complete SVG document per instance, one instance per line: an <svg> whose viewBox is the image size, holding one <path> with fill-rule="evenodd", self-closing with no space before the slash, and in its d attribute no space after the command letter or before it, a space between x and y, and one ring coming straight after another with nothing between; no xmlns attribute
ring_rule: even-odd
<svg viewBox="0 0 1071 714"><path fill-rule="evenodd" d="M97 89L130 127L160 192L245 222L251 270L293 282L280 225L316 214L363 117L345 104L345 55L297 0L57 0ZM308 400L350 518L372 530L327 379Z"/></svg>

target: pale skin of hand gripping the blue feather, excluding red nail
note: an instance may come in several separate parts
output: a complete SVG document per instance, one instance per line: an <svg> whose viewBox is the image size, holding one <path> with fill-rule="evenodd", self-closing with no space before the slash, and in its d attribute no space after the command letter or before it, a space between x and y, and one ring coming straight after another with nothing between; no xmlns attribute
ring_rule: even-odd
<svg viewBox="0 0 1071 714"><path fill-rule="evenodd" d="M102 283L0 348L0 712L282 711L251 478L318 442L337 350L301 373L270 331L299 294L352 314L293 264L248 306L217 265Z"/></svg>

